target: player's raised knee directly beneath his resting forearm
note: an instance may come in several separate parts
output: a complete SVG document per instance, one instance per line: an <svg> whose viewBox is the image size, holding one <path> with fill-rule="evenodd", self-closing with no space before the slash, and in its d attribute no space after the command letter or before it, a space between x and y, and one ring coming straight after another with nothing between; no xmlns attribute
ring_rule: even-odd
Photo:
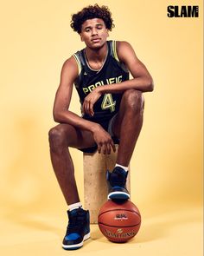
<svg viewBox="0 0 204 256"><path fill-rule="evenodd" d="M125 107L135 112L143 112L144 99L143 93L136 89L127 89L124 91L123 101Z"/></svg>

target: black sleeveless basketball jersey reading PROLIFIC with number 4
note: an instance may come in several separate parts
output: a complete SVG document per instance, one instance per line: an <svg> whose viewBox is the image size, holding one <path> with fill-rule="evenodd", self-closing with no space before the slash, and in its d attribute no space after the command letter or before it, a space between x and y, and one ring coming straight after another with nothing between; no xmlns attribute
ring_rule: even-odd
<svg viewBox="0 0 204 256"><path fill-rule="evenodd" d="M94 70L89 66L85 49L73 54L79 68L79 76L75 80L74 85L80 96L81 105L86 95L96 87L129 80L129 71L118 60L116 42L107 41L107 45L107 56L99 70ZM122 94L101 95L99 100L93 105L94 115L89 116L85 114L83 118L90 121L103 121L112 118L118 112L121 98Z"/></svg>

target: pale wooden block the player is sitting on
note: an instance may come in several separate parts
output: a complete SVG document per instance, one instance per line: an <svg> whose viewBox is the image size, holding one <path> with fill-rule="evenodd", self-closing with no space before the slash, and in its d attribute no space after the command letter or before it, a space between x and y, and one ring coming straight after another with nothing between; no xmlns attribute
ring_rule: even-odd
<svg viewBox="0 0 204 256"><path fill-rule="evenodd" d="M90 212L91 224L98 223L98 213L100 207L107 200L106 170L112 171L115 167L118 154L118 145L116 152L112 154L94 154L84 153L84 206ZM129 167L130 170L130 167ZM131 193L130 172L127 183L128 191Z"/></svg>

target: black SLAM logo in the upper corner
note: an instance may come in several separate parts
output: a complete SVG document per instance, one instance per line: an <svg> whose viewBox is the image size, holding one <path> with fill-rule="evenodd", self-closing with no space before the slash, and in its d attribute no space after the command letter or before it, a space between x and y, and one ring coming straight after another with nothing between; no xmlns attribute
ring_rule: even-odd
<svg viewBox="0 0 204 256"><path fill-rule="evenodd" d="M169 5L167 7L167 16L169 17L198 17L198 5Z"/></svg>

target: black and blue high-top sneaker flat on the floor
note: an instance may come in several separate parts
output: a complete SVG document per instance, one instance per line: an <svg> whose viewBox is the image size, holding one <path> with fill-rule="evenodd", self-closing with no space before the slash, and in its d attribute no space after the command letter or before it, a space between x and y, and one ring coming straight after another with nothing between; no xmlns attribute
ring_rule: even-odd
<svg viewBox="0 0 204 256"><path fill-rule="evenodd" d="M67 211L68 226L62 247L65 250L76 250L83 246L83 242L90 238L89 211L82 208Z"/></svg>

